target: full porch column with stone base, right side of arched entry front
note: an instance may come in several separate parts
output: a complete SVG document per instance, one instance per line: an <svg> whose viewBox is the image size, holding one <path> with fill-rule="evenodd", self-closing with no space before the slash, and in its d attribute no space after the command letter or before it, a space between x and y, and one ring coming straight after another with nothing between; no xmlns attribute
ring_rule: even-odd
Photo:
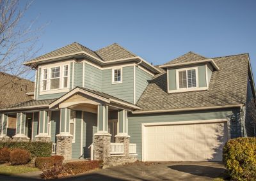
<svg viewBox="0 0 256 181"><path fill-rule="evenodd" d="M94 159L110 156L111 134L108 133L108 105L98 105L97 133L94 134Z"/></svg>

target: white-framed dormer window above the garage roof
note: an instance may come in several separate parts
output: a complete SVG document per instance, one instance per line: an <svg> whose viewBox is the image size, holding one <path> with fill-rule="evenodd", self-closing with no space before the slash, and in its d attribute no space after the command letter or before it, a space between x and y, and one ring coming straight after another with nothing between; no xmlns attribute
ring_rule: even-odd
<svg viewBox="0 0 256 181"><path fill-rule="evenodd" d="M178 70L179 89L195 88L197 87L196 69Z"/></svg>

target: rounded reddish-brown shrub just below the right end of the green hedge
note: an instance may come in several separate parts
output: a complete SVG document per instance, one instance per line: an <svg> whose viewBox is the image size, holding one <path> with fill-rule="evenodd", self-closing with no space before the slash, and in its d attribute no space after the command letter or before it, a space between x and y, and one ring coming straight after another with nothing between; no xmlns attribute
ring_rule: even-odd
<svg viewBox="0 0 256 181"><path fill-rule="evenodd" d="M52 166L61 166L63 160L63 156L36 157L35 166L40 169L50 168Z"/></svg>

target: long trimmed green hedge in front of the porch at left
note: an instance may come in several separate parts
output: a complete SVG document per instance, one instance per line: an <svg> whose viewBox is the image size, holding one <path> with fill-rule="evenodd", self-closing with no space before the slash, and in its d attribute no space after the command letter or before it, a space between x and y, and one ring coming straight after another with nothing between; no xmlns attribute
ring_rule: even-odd
<svg viewBox="0 0 256 181"><path fill-rule="evenodd" d="M52 153L52 143L42 141L29 141L29 142L0 142L0 148L21 148L28 150L31 153L31 157L49 157Z"/></svg>

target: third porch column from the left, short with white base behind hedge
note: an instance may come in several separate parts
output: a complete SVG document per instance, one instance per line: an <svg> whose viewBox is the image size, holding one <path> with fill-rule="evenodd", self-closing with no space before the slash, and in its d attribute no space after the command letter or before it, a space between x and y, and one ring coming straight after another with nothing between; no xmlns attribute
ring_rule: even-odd
<svg viewBox="0 0 256 181"><path fill-rule="evenodd" d="M51 136L48 133L49 115L49 112L45 110L39 111L39 130L38 135L35 136L35 141L51 141Z"/></svg>

